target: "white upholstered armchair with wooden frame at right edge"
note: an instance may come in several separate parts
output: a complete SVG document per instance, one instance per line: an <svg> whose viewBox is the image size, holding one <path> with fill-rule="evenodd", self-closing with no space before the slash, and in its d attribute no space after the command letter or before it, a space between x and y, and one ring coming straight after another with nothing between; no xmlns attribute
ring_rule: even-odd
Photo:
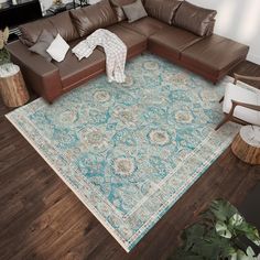
<svg viewBox="0 0 260 260"><path fill-rule="evenodd" d="M238 83L239 79L260 82L260 77L249 77L238 74L235 74L234 77L234 84L227 84L224 100L221 99L224 101L223 111L225 118L215 130L218 130L227 121L260 126L260 89L242 87Z"/></svg>

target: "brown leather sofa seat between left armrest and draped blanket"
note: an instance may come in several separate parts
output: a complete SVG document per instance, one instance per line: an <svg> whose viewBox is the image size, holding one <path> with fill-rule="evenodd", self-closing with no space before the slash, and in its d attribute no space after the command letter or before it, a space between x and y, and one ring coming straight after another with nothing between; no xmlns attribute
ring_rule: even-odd
<svg viewBox="0 0 260 260"><path fill-rule="evenodd" d="M80 41L82 39L71 42L71 48ZM93 54L88 58L78 61L75 54L68 52L63 62L53 62L53 64L58 67L63 87L66 88L78 84L80 80L84 82L84 79L98 71L105 72L106 56L102 52L94 50Z"/></svg>

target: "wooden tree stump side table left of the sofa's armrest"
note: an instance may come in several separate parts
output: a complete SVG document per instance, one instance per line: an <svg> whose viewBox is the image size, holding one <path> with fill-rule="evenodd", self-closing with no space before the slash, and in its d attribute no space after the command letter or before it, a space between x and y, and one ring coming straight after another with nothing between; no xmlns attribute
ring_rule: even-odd
<svg viewBox="0 0 260 260"><path fill-rule="evenodd" d="M7 63L0 66L0 94L8 107L20 107L28 102L30 96L18 65Z"/></svg>

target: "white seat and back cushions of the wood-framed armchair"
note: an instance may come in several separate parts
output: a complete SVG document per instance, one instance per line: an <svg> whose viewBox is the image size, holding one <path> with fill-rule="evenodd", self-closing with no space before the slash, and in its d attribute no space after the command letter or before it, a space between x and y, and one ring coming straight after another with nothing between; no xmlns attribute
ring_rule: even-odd
<svg viewBox="0 0 260 260"><path fill-rule="evenodd" d="M223 102L223 111L228 113L231 109L231 100L260 106L260 90L253 87L240 87L231 83L227 84L225 98ZM247 121L252 124L260 126L260 111L237 106L234 111L234 117Z"/></svg>

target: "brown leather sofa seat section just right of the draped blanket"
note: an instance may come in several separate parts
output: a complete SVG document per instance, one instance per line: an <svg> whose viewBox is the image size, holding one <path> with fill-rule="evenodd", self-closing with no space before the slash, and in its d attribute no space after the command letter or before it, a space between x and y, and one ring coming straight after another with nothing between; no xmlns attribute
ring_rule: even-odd
<svg viewBox="0 0 260 260"><path fill-rule="evenodd" d="M134 31L122 28L119 24L113 24L107 30L115 33L127 45L128 57L137 55L147 48L147 37Z"/></svg>

